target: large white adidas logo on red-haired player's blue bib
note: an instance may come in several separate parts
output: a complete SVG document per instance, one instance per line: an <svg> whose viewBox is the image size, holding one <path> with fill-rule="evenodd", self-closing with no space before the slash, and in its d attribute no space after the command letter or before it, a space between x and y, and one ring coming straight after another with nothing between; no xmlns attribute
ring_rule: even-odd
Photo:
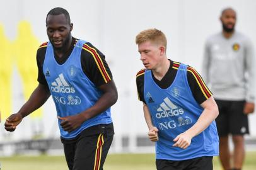
<svg viewBox="0 0 256 170"><path fill-rule="evenodd" d="M178 116L184 113L182 108L178 108L169 98L163 99L160 107L157 109L156 118L166 118L168 116Z"/></svg>

